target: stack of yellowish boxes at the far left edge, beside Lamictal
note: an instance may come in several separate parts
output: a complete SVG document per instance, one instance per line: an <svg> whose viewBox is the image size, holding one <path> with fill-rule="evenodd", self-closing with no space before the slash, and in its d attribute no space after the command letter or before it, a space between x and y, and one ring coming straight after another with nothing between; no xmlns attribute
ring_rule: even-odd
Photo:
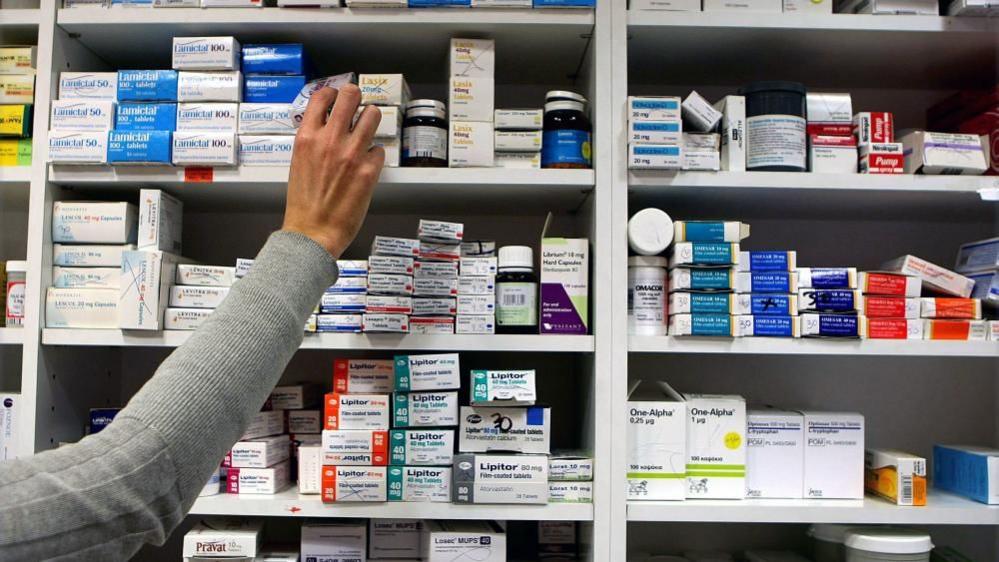
<svg viewBox="0 0 999 562"><path fill-rule="evenodd" d="M31 164L37 47L0 47L0 166Z"/></svg>

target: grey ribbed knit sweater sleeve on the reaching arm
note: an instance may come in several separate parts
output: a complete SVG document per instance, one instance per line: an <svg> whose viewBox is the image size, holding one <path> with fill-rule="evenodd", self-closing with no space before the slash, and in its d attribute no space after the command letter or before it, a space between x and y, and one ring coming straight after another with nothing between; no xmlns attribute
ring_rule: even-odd
<svg viewBox="0 0 999 562"><path fill-rule="evenodd" d="M271 235L249 275L104 431L0 464L0 560L127 560L163 544L302 342L336 262Z"/></svg>

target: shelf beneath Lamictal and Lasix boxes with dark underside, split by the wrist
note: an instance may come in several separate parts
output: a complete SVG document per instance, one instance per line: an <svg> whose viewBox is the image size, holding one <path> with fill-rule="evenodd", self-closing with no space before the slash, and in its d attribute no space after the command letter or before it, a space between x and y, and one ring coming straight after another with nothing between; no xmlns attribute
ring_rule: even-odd
<svg viewBox="0 0 999 562"><path fill-rule="evenodd" d="M212 183L185 182L184 170L167 166L50 166L49 179L88 195L121 196L134 194L140 187L160 187L195 209L284 205L288 168L218 168ZM594 177L593 170L387 168L375 190L372 209L468 214L574 210L593 190Z"/></svg>

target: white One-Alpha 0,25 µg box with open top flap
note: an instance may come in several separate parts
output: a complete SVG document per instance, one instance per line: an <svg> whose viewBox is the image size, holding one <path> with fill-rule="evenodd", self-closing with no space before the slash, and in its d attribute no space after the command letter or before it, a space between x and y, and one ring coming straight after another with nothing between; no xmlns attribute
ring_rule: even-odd
<svg viewBox="0 0 999 562"><path fill-rule="evenodd" d="M628 392L628 499L686 497L687 404L666 383Z"/></svg>

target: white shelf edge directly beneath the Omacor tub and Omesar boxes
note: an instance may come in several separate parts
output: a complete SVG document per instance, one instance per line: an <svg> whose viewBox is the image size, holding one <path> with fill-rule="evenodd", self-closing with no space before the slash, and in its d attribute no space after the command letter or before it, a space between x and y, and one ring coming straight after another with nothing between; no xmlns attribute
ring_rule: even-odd
<svg viewBox="0 0 999 562"><path fill-rule="evenodd" d="M999 358L999 342L995 341L631 336L628 350L634 353Z"/></svg>

